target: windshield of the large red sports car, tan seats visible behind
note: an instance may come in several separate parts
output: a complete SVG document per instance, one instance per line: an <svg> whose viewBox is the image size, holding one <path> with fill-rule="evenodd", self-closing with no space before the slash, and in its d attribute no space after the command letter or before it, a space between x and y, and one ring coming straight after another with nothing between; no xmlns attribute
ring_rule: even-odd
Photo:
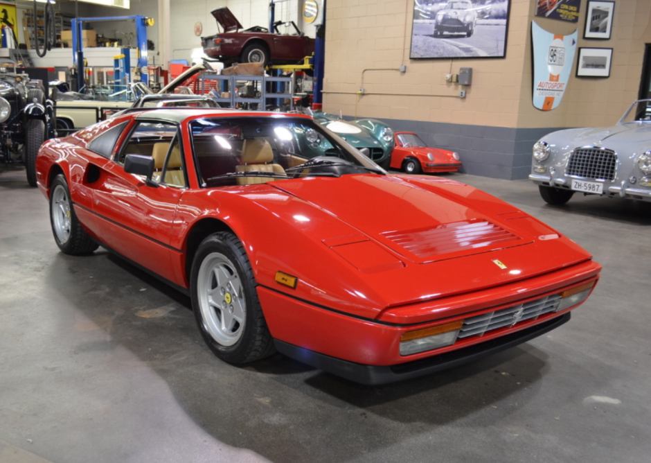
<svg viewBox="0 0 651 463"><path fill-rule="evenodd" d="M190 122L202 186L302 177L384 173L371 159L312 119L274 116Z"/></svg>

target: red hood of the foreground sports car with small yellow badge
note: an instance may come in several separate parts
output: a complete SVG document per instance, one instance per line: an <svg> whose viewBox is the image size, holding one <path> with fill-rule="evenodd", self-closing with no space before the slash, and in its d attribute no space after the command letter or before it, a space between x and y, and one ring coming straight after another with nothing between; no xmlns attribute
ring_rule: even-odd
<svg viewBox="0 0 651 463"><path fill-rule="evenodd" d="M367 304L371 300L378 306L407 304L461 294L591 259L576 243L528 214L452 180L344 175L282 180L269 186L351 227L344 234L324 236L326 227L321 225L309 234L353 266L360 259L365 265L377 263L371 272L358 265L361 272L346 277L350 284L357 281L357 288L366 288L362 292L368 297ZM270 210L275 207L265 204ZM382 252L374 252L371 245L352 245L363 241L360 235L368 236L395 257L390 259L386 253L380 256ZM346 250L349 245L350 252ZM355 254L355 247L360 254ZM508 268L500 268L495 260ZM398 261L403 265L395 265ZM332 294L339 289L328 291Z"/></svg>

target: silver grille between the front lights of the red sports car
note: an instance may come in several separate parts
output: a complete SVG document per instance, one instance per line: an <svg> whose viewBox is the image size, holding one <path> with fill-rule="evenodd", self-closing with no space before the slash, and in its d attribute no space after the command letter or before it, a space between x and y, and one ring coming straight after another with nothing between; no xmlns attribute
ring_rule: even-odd
<svg viewBox="0 0 651 463"><path fill-rule="evenodd" d="M545 313L555 312L560 304L560 295L554 294L534 301L525 302L502 308L499 311L484 313L472 318L466 318L463 321L458 338L467 338L468 336L483 336L489 331L503 328L504 326L513 326L524 320L535 320Z"/></svg>

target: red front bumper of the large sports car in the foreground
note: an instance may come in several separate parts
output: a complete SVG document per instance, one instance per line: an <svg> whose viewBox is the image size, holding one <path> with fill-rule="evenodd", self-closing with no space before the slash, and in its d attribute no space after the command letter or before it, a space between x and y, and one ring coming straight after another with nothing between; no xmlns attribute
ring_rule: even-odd
<svg viewBox="0 0 651 463"><path fill-rule="evenodd" d="M375 367L383 367L378 371L385 371L386 368L397 369L399 365L425 361L444 353L447 358L447 354L451 355L454 351L464 351L463 349L476 344L497 340L518 331L526 331L563 315L574 306L560 311L554 309L537 313L535 316L523 317L508 326L487 328L481 335L460 334L454 344L446 347L401 355L401 336L408 331L427 329L458 320L467 320L470 325L475 326L474 320L479 320L476 317L492 320L493 315L498 312L499 314L494 316L502 320L501 317L510 316L503 314L511 313L511 309L519 304L526 306L546 304L542 299L582 283L596 281L599 271L598 263L584 261L569 268L531 277L526 281L474 291L469 295L456 295L434 299L431 302L386 308L373 319L312 304L266 286L258 286L258 297L260 297L267 326L275 340L304 349L306 352L319 353L324 356L323 358L339 359L344 362L341 365L366 365L371 370ZM488 316L489 313L493 315L485 318L484 316ZM464 329L462 328L462 331ZM310 359L303 361L310 363L311 360L308 360ZM332 363L330 360L328 362Z"/></svg>

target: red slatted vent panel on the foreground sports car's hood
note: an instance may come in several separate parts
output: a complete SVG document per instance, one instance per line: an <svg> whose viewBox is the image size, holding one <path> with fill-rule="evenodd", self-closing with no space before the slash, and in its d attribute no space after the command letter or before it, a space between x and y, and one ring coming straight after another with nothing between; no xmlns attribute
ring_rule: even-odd
<svg viewBox="0 0 651 463"><path fill-rule="evenodd" d="M383 235L420 258L517 239L510 231L488 220L464 220L431 229L389 231Z"/></svg>

